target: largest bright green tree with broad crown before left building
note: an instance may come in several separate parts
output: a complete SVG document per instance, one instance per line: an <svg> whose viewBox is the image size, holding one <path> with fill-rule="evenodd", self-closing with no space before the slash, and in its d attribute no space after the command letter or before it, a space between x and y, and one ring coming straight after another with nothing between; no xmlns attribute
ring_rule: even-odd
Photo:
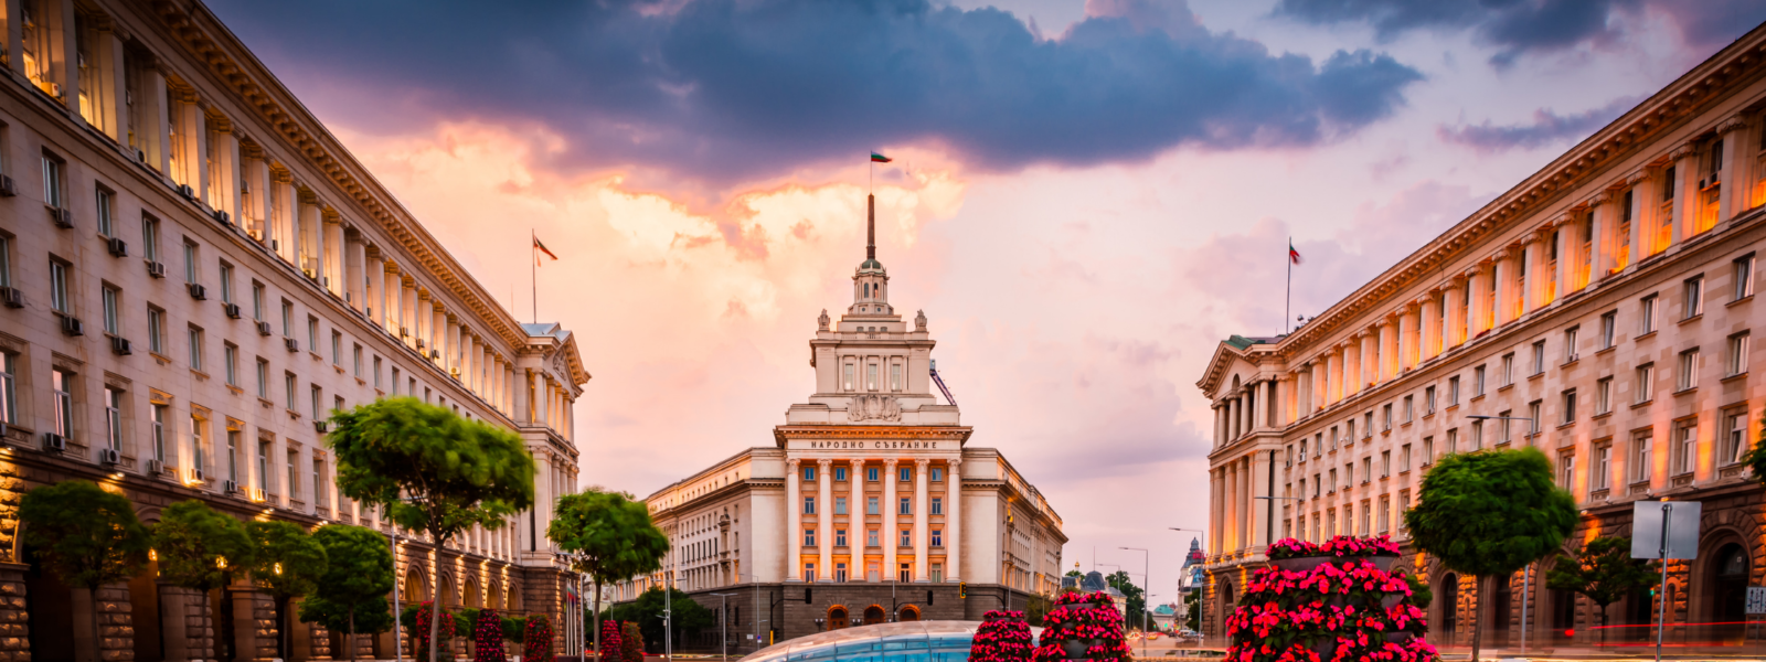
<svg viewBox="0 0 1766 662"><path fill-rule="evenodd" d="M337 454L337 489L381 507L403 528L427 531L438 549L472 526L498 530L533 507L533 455L509 429L415 397L378 399L330 420L325 443ZM436 600L431 641L440 611Z"/></svg>

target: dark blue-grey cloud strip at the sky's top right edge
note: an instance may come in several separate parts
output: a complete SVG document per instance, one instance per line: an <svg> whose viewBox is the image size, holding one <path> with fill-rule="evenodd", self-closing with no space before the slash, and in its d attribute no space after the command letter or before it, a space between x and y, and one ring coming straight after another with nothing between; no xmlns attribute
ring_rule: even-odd
<svg viewBox="0 0 1766 662"><path fill-rule="evenodd" d="M1505 67L1533 53L1581 44L1604 46L1625 34L1626 19L1672 21L1687 46L1711 51L1766 19L1757 0L1280 0L1277 16L1303 23L1367 23L1379 39L1411 30L1471 30Z"/></svg>

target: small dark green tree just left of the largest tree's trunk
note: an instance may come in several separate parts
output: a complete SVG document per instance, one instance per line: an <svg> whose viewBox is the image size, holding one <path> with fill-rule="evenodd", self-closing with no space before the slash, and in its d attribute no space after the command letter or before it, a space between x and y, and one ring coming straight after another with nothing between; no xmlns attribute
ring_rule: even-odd
<svg viewBox="0 0 1766 662"><path fill-rule="evenodd" d="M357 632L392 628L392 549L385 537L364 526L328 524L313 531L313 542L325 549L325 574L300 602L300 620L344 632L344 653L355 660Z"/></svg>

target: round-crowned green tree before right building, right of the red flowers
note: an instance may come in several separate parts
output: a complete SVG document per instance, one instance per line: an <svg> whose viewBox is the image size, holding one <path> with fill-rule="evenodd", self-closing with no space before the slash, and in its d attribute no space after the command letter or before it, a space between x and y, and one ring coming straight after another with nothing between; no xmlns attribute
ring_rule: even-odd
<svg viewBox="0 0 1766 662"><path fill-rule="evenodd" d="M1404 512L1416 547L1478 577L1510 577L1556 553L1575 528L1575 500L1552 484L1538 448L1450 454L1427 475L1415 508ZM1482 602L1482 595L1480 595ZM1471 660L1483 643L1473 616Z"/></svg>

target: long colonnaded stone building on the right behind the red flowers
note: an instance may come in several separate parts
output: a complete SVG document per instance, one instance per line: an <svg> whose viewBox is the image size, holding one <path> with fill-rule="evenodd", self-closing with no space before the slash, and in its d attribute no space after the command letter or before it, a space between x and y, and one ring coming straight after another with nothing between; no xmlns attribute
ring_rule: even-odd
<svg viewBox="0 0 1766 662"><path fill-rule="evenodd" d="M1406 540L1441 455L1535 447L1582 508L1566 553L1630 535L1632 501L1701 501L1697 560L1671 563L1660 593L1667 639L1738 646L1766 567L1766 500L1738 464L1766 411L1762 203L1755 28L1293 334L1222 342L1199 381L1215 411L1206 634L1222 641L1272 540ZM1558 558L1482 588L1427 554L1402 563L1434 590L1436 643L1468 644L1475 609L1485 646L1651 636L1649 593L1596 628L1591 602L1545 588Z"/></svg>

